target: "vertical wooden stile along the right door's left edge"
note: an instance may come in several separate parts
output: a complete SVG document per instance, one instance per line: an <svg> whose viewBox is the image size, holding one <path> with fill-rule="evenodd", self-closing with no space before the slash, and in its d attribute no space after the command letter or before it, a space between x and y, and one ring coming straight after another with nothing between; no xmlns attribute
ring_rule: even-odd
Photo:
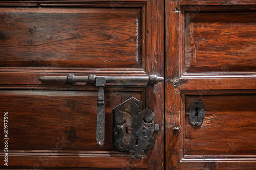
<svg viewBox="0 0 256 170"><path fill-rule="evenodd" d="M166 1L166 22L165 22L165 153L166 169L180 168L180 132L173 130L180 124L180 92L179 76L180 63L179 55L182 45L180 36L182 35L182 20L180 21L181 9L179 1ZM180 28L181 26L181 28Z"/></svg>

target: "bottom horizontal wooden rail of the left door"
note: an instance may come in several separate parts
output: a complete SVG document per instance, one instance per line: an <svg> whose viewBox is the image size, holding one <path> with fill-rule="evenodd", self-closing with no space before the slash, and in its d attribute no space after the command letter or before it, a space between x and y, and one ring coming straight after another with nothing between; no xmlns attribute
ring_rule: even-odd
<svg viewBox="0 0 256 170"><path fill-rule="evenodd" d="M46 153L48 153L46 151ZM51 152L50 152L51 154ZM147 158L140 160L134 160L130 155L118 155L111 152L98 155L97 152L92 154L80 154L69 155L62 154L62 156L49 156L45 155L45 152L38 153L37 155L24 155L20 154L14 156L10 154L9 166L16 167L32 167L40 169L40 167L80 167L80 168L146 168ZM31 169L31 168L30 168ZM42 168L44 169L44 168Z"/></svg>

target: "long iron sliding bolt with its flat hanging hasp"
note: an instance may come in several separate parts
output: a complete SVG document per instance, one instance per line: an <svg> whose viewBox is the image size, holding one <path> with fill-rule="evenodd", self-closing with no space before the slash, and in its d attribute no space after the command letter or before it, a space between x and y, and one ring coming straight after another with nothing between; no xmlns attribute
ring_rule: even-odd
<svg viewBox="0 0 256 170"><path fill-rule="evenodd" d="M89 82L95 84L98 87L98 103L97 103L97 129L96 129L96 141L98 147L104 145L105 138L105 104L104 104L104 87L106 83L120 83L120 82L145 82L150 84L156 84L157 82L164 81L163 77L157 75L149 76L42 76L38 79L41 82L66 82L73 84L76 82ZM158 131L155 127L155 131Z"/></svg>

